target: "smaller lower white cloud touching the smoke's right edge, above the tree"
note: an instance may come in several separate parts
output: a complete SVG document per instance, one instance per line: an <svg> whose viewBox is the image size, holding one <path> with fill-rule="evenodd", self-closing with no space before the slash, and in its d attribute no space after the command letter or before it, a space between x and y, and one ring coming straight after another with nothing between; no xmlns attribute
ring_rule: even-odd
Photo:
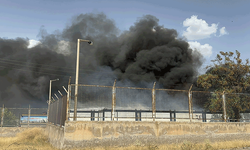
<svg viewBox="0 0 250 150"><path fill-rule="evenodd" d="M204 57L209 58L212 55L212 49L213 47L209 44L204 44L201 45L199 42L195 41L195 42L188 42L189 47L191 49L196 49L197 51L199 51Z"/></svg>

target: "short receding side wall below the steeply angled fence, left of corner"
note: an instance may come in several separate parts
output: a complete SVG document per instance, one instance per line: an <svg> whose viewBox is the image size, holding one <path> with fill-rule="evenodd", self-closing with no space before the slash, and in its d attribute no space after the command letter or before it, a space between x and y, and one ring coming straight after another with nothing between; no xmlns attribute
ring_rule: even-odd
<svg viewBox="0 0 250 150"><path fill-rule="evenodd" d="M48 135L49 142L56 148L62 148L64 143L64 128L53 124L47 124L45 133Z"/></svg>

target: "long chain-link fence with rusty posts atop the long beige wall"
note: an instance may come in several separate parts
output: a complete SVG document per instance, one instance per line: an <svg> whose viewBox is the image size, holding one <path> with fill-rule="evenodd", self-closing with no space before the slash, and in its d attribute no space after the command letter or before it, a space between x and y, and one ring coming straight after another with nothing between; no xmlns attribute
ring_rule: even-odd
<svg viewBox="0 0 250 150"><path fill-rule="evenodd" d="M79 85L77 111L75 85L69 86L69 120L127 121L231 121L229 94L206 91ZM248 103L249 95L235 103ZM232 97L232 96L231 96ZM250 106L245 104L246 106ZM240 109L238 121L249 121L249 107ZM74 114L76 116L74 117ZM228 114L227 114L228 113ZM76 119L78 118L78 119Z"/></svg>

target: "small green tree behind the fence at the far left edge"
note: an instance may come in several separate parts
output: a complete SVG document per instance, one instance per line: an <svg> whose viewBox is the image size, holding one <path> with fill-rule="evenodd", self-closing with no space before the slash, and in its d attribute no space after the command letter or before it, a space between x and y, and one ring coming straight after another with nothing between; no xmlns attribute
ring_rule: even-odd
<svg viewBox="0 0 250 150"><path fill-rule="evenodd" d="M2 111L0 116L2 117ZM17 125L16 116L7 108L4 108L3 126L16 126L16 125Z"/></svg>

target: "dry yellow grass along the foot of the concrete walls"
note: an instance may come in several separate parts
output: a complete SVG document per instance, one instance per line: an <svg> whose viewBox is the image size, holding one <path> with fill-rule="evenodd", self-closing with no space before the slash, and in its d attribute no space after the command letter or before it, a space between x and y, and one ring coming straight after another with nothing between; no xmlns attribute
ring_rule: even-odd
<svg viewBox="0 0 250 150"><path fill-rule="evenodd" d="M228 141L210 143L190 143L183 142L181 144L171 145L141 145L135 142L130 147L103 147L103 148L82 148L82 150L217 150L250 147L250 141ZM32 128L16 137L0 138L0 149L3 150L55 150L49 143L44 130L40 128ZM74 149L79 150L79 149Z"/></svg>

